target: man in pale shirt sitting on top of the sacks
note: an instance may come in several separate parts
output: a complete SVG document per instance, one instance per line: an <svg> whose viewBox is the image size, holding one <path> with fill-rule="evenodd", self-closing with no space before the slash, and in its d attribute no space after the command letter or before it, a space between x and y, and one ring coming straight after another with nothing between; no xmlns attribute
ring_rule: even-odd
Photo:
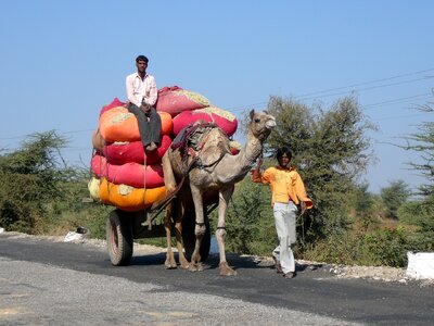
<svg viewBox="0 0 434 326"><path fill-rule="evenodd" d="M136 115L144 150L151 152L159 145L162 118L154 108L157 89L155 78L146 74L148 62L146 57L137 57L137 73L127 76L128 103L126 106Z"/></svg>

